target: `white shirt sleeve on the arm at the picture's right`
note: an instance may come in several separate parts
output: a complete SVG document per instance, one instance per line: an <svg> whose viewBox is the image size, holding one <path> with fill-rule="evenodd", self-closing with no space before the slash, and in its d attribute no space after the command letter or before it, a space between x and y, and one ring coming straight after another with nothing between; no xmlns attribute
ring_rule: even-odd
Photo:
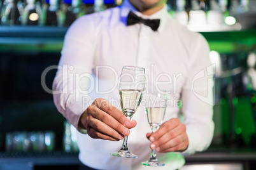
<svg viewBox="0 0 256 170"><path fill-rule="evenodd" d="M209 51L206 39L199 34L190 48L190 69L181 92L189 142L183 155L206 150L213 138L213 65Z"/></svg>

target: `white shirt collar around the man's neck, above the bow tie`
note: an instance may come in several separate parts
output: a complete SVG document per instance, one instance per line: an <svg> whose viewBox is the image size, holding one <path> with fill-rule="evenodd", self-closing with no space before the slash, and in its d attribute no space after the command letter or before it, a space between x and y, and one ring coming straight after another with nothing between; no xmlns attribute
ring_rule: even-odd
<svg viewBox="0 0 256 170"><path fill-rule="evenodd" d="M165 5L164 8L162 8L162 10L157 11L156 13L154 13L153 15L150 15L150 16L143 15L138 10L136 10L136 8L134 8L134 6L132 6L132 4L129 2L129 0L124 0L124 2L122 3L122 6L120 6L120 8L121 8L120 20L122 22L124 22L125 25L127 25L127 16L129 14L129 12L132 11L133 13L135 13L136 15L138 15L144 19L160 19L160 25L159 25L158 31L160 33L163 32L164 26L166 25L167 15L168 15L167 5Z"/></svg>

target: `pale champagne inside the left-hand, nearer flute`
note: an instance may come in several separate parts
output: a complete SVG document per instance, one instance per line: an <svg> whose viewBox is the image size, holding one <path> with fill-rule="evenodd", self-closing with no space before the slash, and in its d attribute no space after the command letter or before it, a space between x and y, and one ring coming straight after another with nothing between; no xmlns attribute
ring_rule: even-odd
<svg viewBox="0 0 256 170"><path fill-rule="evenodd" d="M132 117L136 112L139 103L141 103L143 96L142 90L137 89L123 89L120 90L120 103L123 114L127 117Z"/></svg>

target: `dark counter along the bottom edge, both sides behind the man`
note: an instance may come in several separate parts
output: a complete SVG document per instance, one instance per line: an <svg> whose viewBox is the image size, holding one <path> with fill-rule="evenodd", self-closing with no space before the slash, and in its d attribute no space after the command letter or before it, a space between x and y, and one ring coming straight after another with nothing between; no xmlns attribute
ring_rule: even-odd
<svg viewBox="0 0 256 170"><path fill-rule="evenodd" d="M180 170L256 169L256 150L253 148L209 148L206 152L185 156L186 164ZM0 169L38 170L78 169L78 153L67 152L0 152Z"/></svg>

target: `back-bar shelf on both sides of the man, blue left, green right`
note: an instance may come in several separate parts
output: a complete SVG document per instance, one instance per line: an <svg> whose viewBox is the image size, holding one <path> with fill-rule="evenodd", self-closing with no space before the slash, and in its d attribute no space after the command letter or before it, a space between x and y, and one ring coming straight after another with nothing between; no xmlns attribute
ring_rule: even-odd
<svg viewBox="0 0 256 170"><path fill-rule="evenodd" d="M1 52L60 53L68 27L0 26ZM200 32L220 53L256 50L256 29Z"/></svg>

